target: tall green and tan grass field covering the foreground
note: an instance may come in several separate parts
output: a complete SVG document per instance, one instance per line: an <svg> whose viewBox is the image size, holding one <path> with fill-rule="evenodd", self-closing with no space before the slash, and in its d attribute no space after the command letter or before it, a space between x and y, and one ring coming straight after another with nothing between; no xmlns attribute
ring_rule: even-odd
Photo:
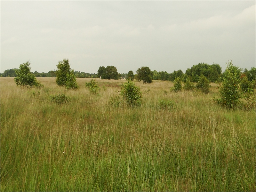
<svg viewBox="0 0 256 192"><path fill-rule="evenodd" d="M1 77L1 191L255 191L255 110L220 108L207 95L136 82L141 107L109 104L126 80L99 80L99 95L37 78L21 89ZM103 90L103 85L106 90ZM68 104L50 101L61 92ZM157 107L170 99L174 108Z"/></svg>

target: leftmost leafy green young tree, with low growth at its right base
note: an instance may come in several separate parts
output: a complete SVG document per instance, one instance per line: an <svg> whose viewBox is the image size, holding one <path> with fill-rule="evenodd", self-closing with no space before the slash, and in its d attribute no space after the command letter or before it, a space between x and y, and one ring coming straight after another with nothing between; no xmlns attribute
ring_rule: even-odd
<svg viewBox="0 0 256 192"><path fill-rule="evenodd" d="M36 80L34 74L31 73L31 67L29 66L30 62L20 64L19 70L16 71L16 77L14 78L14 82L18 86L23 86L27 88L37 87L41 88L44 85Z"/></svg>

